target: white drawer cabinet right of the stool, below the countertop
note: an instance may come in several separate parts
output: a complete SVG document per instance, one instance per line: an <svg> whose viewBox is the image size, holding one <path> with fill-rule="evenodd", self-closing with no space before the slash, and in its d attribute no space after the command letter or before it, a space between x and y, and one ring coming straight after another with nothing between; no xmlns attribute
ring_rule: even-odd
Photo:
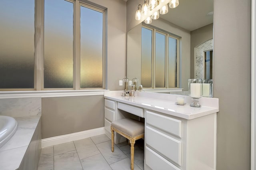
<svg viewBox="0 0 256 170"><path fill-rule="evenodd" d="M145 170L216 169L216 113L192 120L146 110Z"/></svg>

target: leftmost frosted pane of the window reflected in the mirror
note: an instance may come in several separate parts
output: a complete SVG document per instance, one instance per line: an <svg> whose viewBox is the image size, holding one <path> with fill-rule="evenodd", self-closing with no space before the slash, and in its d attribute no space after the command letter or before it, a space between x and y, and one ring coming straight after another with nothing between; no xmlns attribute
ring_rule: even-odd
<svg viewBox="0 0 256 170"><path fill-rule="evenodd" d="M152 87L152 30L142 27L141 34L141 84Z"/></svg>

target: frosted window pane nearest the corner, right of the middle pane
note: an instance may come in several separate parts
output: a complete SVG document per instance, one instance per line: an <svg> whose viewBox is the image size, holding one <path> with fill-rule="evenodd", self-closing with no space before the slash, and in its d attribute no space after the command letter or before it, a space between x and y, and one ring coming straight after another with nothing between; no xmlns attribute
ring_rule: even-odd
<svg viewBox="0 0 256 170"><path fill-rule="evenodd" d="M103 88L103 13L80 6L80 87Z"/></svg>

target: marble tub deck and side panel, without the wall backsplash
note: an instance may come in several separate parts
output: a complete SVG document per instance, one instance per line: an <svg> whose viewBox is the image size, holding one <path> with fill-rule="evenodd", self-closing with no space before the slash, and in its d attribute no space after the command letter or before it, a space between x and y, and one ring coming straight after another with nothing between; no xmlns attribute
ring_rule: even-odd
<svg viewBox="0 0 256 170"><path fill-rule="evenodd" d="M18 128L0 148L0 165L4 170L37 167L41 150L41 115L15 117Z"/></svg>

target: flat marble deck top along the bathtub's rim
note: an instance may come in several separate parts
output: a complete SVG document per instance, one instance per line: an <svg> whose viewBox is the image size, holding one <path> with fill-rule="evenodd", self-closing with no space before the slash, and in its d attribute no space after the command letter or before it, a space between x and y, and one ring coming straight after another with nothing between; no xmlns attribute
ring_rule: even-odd
<svg viewBox="0 0 256 170"><path fill-rule="evenodd" d="M41 115L14 118L18 122L18 128L12 138L0 148L0 165L5 170L19 168Z"/></svg>

